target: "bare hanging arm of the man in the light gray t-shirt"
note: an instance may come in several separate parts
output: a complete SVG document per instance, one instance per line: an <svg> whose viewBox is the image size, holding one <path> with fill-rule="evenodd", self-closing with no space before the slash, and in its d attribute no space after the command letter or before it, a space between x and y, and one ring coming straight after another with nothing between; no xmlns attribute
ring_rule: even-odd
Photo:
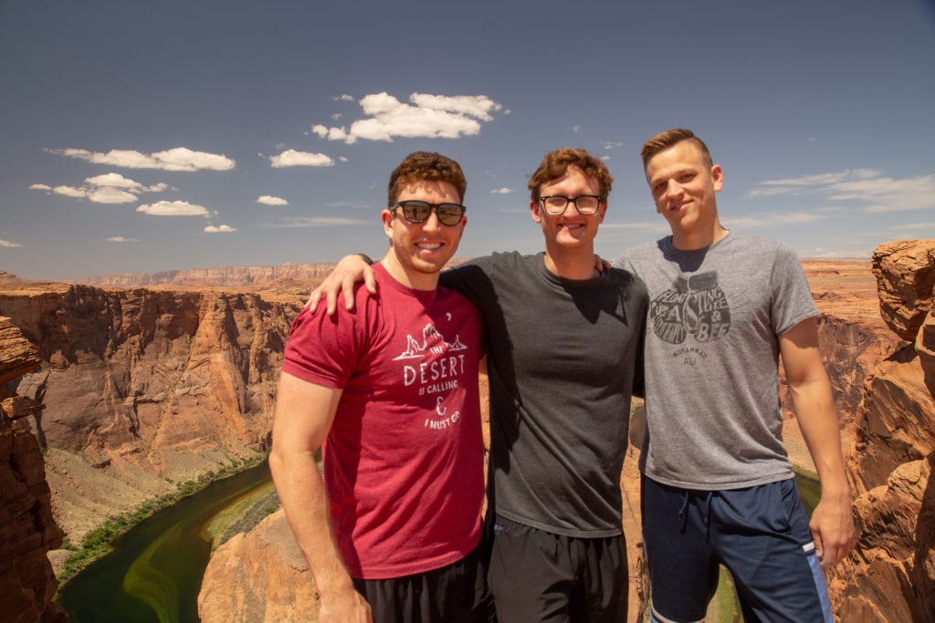
<svg viewBox="0 0 935 623"><path fill-rule="evenodd" d="M841 431L831 383L818 352L815 319L802 320L780 336L779 347L798 427L821 482L821 500L810 522L815 550L822 566L830 567L854 546L854 516L841 454Z"/></svg>

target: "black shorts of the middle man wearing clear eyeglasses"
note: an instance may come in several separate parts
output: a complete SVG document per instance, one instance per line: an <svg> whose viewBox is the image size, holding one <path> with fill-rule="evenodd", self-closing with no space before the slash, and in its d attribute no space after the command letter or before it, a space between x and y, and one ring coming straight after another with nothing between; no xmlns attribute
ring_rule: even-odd
<svg viewBox="0 0 935 623"><path fill-rule="evenodd" d="M626 621L623 534L575 538L504 517L488 522L488 531L487 582L499 623Z"/></svg>

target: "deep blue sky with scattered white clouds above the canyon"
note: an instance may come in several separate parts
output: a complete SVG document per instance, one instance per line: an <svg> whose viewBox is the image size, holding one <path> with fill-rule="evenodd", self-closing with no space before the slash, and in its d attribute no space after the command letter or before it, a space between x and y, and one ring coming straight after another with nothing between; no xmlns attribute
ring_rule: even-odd
<svg viewBox="0 0 935 623"><path fill-rule="evenodd" d="M608 258L668 232L641 144L725 170L724 224L803 257L935 237L935 2L0 0L0 269L380 257L390 171L468 176L457 255L542 248L527 176L615 177Z"/></svg>

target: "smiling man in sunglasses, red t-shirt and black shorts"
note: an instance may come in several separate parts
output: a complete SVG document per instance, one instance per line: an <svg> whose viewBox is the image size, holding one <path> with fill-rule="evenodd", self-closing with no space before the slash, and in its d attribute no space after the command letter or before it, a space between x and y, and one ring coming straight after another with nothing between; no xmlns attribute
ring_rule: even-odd
<svg viewBox="0 0 935 623"><path fill-rule="evenodd" d="M461 167L410 154L390 177L378 295L303 310L282 364L273 479L324 621L487 621L481 318L438 287L467 219ZM323 472L315 455L323 449Z"/></svg>

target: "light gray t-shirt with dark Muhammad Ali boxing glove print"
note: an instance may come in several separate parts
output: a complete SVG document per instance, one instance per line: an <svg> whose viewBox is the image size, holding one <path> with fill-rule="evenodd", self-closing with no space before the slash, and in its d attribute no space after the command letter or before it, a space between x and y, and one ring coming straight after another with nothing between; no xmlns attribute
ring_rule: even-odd
<svg viewBox="0 0 935 623"><path fill-rule="evenodd" d="M795 253L755 234L694 251L669 236L613 263L649 288L643 473L694 489L792 477L778 336L818 314Z"/></svg>

